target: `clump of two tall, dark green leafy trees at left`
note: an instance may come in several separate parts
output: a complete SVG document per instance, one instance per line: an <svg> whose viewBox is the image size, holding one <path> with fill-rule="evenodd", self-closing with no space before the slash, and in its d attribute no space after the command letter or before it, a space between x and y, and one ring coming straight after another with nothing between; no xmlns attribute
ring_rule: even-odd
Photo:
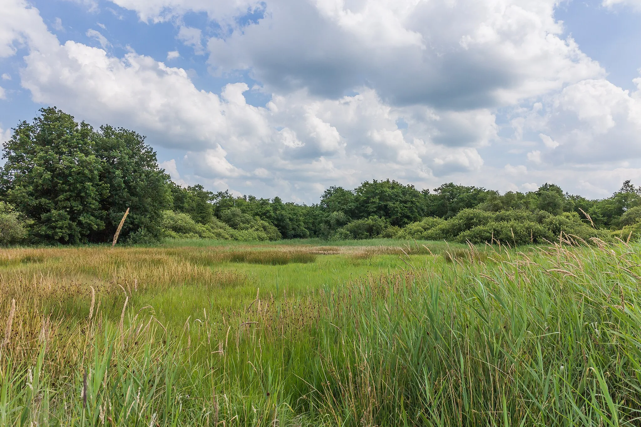
<svg viewBox="0 0 641 427"><path fill-rule="evenodd" d="M4 143L0 172L2 197L29 218L31 239L109 241L127 207L122 238L135 231L157 238L169 177L144 138L110 126L96 132L56 108L40 113Z"/></svg>

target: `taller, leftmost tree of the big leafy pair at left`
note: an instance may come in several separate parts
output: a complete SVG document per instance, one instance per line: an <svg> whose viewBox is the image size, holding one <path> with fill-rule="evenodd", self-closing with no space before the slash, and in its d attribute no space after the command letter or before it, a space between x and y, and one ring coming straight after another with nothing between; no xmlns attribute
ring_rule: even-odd
<svg viewBox="0 0 641 427"><path fill-rule="evenodd" d="M56 108L22 122L3 146L0 176L4 198L31 218L33 238L81 243L104 229L101 200L109 186L96 157L93 129Z"/></svg>

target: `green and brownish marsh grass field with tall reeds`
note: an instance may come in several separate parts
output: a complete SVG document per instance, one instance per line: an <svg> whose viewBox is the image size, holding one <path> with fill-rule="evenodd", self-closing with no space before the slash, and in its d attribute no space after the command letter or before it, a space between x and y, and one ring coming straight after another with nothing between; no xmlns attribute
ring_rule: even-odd
<svg viewBox="0 0 641 427"><path fill-rule="evenodd" d="M0 250L0 424L619 426L641 244Z"/></svg>

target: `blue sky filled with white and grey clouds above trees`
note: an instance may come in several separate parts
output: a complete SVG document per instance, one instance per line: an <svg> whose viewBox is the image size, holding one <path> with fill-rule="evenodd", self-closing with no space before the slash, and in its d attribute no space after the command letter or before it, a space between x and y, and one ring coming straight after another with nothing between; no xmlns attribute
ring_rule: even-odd
<svg viewBox="0 0 641 427"><path fill-rule="evenodd" d="M641 184L641 0L0 0L0 141L38 109L181 185Z"/></svg>

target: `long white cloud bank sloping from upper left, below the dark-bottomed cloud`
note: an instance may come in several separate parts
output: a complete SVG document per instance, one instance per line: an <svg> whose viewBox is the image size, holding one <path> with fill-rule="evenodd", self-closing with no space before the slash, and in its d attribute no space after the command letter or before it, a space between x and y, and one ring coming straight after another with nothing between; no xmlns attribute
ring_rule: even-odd
<svg viewBox="0 0 641 427"><path fill-rule="evenodd" d="M25 62L22 86L35 101L151 134L156 144L186 150L187 165L208 179L266 179L269 171L273 180L335 182L478 170L476 147L496 133L487 109L395 108L369 88L337 100L299 90L255 107L246 83L216 95L197 90L181 68L72 41L34 50Z"/></svg>

